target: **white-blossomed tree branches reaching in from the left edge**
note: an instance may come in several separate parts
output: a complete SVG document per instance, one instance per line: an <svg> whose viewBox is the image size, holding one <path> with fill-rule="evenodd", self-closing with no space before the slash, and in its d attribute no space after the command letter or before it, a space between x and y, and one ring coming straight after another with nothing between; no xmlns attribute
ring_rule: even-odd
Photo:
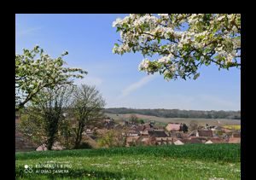
<svg viewBox="0 0 256 180"><path fill-rule="evenodd" d="M63 67L62 57L56 59L44 54L39 46L32 50L23 49L23 55L15 55L15 110L31 101L40 90L55 85L72 84L72 78L83 78L87 73L79 68Z"/></svg>

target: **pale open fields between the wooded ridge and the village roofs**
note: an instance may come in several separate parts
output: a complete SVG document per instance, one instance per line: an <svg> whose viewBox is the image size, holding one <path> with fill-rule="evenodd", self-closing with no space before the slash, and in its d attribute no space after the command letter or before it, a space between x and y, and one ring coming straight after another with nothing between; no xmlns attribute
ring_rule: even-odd
<svg viewBox="0 0 256 180"><path fill-rule="evenodd" d="M122 122L128 120L131 116L131 113L125 114L116 114L116 113L105 113L109 117L115 119L117 122ZM196 120L200 125L241 125L241 120L238 119L193 119L193 118L162 118L156 116L148 116L143 114L137 114L138 119L145 119L145 120L154 120L155 122L161 124L168 124L168 123L185 123L189 125L191 120ZM219 123L218 123L219 122Z"/></svg>

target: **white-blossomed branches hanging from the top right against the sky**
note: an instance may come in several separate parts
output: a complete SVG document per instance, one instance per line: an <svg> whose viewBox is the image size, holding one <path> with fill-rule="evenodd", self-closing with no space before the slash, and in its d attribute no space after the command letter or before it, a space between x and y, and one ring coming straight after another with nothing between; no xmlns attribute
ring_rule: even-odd
<svg viewBox="0 0 256 180"><path fill-rule="evenodd" d="M139 70L164 78L198 78L201 65L241 67L240 14L131 14L113 21L120 33L113 53L140 52ZM148 57L158 56L156 60Z"/></svg>

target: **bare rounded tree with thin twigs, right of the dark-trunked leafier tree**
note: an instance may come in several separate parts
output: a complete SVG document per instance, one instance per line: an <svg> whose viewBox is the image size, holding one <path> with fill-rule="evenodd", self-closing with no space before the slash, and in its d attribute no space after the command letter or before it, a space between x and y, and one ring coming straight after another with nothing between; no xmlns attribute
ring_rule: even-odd
<svg viewBox="0 0 256 180"><path fill-rule="evenodd" d="M82 133L90 121L102 118L106 102L95 86L82 84L73 93L73 112L78 120L74 148L79 148Z"/></svg>

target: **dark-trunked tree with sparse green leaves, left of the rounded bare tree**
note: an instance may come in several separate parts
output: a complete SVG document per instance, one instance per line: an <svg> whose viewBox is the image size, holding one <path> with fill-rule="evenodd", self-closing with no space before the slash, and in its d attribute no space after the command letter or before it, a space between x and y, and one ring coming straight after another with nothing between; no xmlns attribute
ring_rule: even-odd
<svg viewBox="0 0 256 180"><path fill-rule="evenodd" d="M21 120L20 131L38 145L46 143L50 150L58 139L60 125L64 124L64 107L68 106L68 96L72 90L72 86L62 85L38 92L36 103L26 110L28 118Z"/></svg>

